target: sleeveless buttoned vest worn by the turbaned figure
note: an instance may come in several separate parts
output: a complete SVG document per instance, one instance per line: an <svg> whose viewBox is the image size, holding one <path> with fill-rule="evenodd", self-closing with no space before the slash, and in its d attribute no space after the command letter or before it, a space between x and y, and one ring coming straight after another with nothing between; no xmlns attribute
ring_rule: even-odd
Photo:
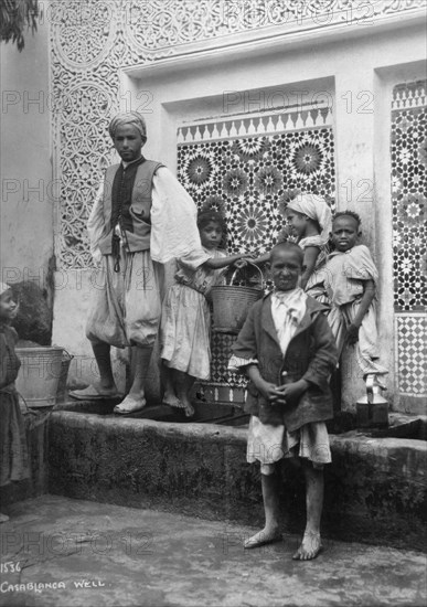
<svg viewBox="0 0 427 607"><path fill-rule="evenodd" d="M99 241L103 255L113 253L114 224L117 223L125 234L125 248L128 252L150 248L152 178L162 166L161 162L142 158L136 170L132 164L124 169L121 163L107 168L104 179L104 220L110 230Z"/></svg>

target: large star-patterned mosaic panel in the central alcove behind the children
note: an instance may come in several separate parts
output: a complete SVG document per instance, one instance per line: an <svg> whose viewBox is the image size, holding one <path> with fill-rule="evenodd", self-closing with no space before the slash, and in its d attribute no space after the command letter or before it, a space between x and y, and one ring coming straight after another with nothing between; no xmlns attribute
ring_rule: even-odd
<svg viewBox="0 0 427 607"><path fill-rule="evenodd" d="M265 253L282 228L288 190L322 194L334 210L332 126L181 143L178 178L199 210L225 217L229 254ZM214 401L224 386L242 392L247 385L244 375L227 371L235 339L212 332L211 381L200 385L211 386Z"/></svg>

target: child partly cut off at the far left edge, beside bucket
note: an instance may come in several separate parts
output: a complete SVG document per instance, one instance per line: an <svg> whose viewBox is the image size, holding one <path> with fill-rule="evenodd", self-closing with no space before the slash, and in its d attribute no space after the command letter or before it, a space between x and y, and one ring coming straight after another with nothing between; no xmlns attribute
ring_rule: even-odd
<svg viewBox="0 0 427 607"><path fill-rule="evenodd" d="M0 284L0 486L29 478L24 419L19 405L14 381L21 365L14 344L17 332L9 327L18 313L12 290ZM9 517L0 513L0 523Z"/></svg>

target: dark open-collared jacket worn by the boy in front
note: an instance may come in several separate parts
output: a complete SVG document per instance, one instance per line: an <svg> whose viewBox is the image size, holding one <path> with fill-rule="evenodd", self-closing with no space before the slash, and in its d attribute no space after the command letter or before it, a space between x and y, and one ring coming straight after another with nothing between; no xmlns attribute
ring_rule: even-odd
<svg viewBox="0 0 427 607"><path fill-rule="evenodd" d="M285 424L288 432L293 432L305 424L333 417L329 377L335 369L338 352L323 313L325 310L316 299L307 297L306 313L284 358L271 316L271 296L265 296L252 307L233 353L243 359L256 359L263 379L275 385L284 383L284 371L287 372L286 383L303 379L310 384L298 402L288 400L286 405L271 405L249 382L245 411L264 424Z"/></svg>

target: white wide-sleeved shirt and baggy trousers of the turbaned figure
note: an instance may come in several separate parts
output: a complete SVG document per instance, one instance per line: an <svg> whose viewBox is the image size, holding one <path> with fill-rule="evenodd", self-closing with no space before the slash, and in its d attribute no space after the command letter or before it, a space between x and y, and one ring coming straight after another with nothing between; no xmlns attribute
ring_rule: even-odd
<svg viewBox="0 0 427 607"><path fill-rule="evenodd" d="M98 190L87 223L90 253L100 265L86 328L93 341L117 348L152 347L161 312L161 264L201 246L194 201L166 167L153 175L151 198L150 248L129 253L122 242L120 271L114 271L113 256L99 249L110 225L104 215L104 183Z"/></svg>

